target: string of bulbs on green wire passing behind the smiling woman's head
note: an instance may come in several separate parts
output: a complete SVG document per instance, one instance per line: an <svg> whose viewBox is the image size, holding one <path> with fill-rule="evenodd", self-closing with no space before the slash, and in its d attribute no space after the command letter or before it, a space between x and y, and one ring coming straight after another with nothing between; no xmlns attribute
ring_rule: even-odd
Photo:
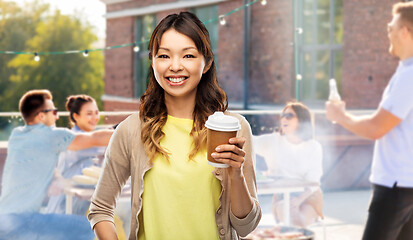
<svg viewBox="0 0 413 240"><path fill-rule="evenodd" d="M225 13L223 15L220 15L218 18L212 18L209 19L204 23L204 25L212 23L212 22L216 22L218 21L221 25L225 25L226 24L226 20L225 20L225 16L231 15L235 12L241 11L242 9L251 6L252 4L255 4L257 2L261 2L262 5L266 5L267 4L267 0L252 0L250 2L248 2L247 4L244 4L240 7L237 7L235 9L233 9L232 11ZM123 48L123 47L130 47L133 46L133 51L138 52L139 51L139 44L142 43L147 43L149 42L149 39L143 40L141 42L136 42L136 43L127 43L127 44L121 44L121 45L116 45L116 46L108 46L108 47L104 47L104 48L96 48L96 49L92 49L92 50L70 50L70 51L59 51L59 52L23 52L23 51L1 51L0 50L0 54L25 54L25 55L32 55L34 54L34 60L35 61L39 61L40 60L40 56L39 55L56 55L56 54L73 54L73 53L83 53L83 56L87 57L89 51L104 51L104 50L110 50L110 49L116 49L116 48Z"/></svg>

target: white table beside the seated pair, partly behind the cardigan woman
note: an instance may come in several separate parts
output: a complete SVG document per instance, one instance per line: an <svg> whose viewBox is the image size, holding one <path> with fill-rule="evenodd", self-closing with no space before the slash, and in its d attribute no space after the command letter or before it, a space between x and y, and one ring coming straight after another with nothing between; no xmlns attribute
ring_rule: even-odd
<svg viewBox="0 0 413 240"><path fill-rule="evenodd" d="M66 214L72 214L72 207L73 207L73 196L90 201L92 198L93 193L95 192L95 188L83 188L83 187L76 187L76 185L68 185L64 189L64 194L66 196ZM122 193L120 198L128 198L131 197L131 188L130 185L126 184L122 189Z"/></svg>

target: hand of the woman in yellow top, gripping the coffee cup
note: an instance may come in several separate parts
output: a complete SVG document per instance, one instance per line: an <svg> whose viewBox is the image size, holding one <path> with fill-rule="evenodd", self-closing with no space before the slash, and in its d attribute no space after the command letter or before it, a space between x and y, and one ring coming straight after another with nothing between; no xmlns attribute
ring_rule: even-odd
<svg viewBox="0 0 413 240"><path fill-rule="evenodd" d="M245 161L245 151L242 149L245 144L244 137L234 137L229 139L229 144L219 145L215 148L211 156L221 163L226 163L229 166L230 174L233 171L241 173L242 166Z"/></svg>

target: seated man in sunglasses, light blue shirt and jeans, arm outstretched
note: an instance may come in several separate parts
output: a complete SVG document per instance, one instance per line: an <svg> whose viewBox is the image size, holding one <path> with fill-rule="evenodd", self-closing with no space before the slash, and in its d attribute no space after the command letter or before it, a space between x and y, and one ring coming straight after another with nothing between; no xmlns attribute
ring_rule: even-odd
<svg viewBox="0 0 413 240"><path fill-rule="evenodd" d="M59 116L49 90L26 92L20 99L19 110L25 125L13 129L10 135L0 196L1 222L11 221L11 224L0 224L0 234L7 234L7 239L19 239L27 233L46 238L60 229L66 231L69 239L85 239L81 238L82 234L90 237L84 217L38 212L52 181L59 153L66 149L105 146L113 130L76 134L55 127ZM41 232L47 224L50 224L50 231Z"/></svg>

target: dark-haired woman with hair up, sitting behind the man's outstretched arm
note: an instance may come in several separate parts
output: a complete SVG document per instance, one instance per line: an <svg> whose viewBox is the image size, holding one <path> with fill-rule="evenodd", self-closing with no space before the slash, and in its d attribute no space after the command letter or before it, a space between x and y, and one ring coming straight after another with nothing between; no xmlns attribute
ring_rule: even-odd
<svg viewBox="0 0 413 240"><path fill-rule="evenodd" d="M99 109L95 99L88 95L71 95L66 101L66 110L74 132L91 132L96 129L99 122ZM81 175L82 169L93 166L97 158L103 157L105 147L93 147L79 151L65 151L60 154L57 165L57 174L64 179L71 179L75 175ZM62 177L58 177L50 190L61 185ZM49 191L50 192L50 191ZM48 213L65 213L65 196L63 194L50 197L47 205ZM89 201L74 199L73 213L84 215L89 208Z"/></svg>

